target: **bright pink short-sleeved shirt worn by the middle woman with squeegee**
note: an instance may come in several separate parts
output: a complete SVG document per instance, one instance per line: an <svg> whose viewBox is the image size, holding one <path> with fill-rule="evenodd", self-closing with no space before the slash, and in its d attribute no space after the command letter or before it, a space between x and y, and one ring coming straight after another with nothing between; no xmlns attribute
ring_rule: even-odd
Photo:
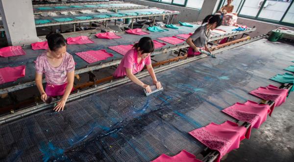
<svg viewBox="0 0 294 162"><path fill-rule="evenodd" d="M124 56L123 59L113 74L114 78L121 78L126 76L125 68L132 69L133 74L140 72L145 65L151 64L150 55L145 59L142 58L141 62L138 63L138 51L136 49L129 50Z"/></svg>

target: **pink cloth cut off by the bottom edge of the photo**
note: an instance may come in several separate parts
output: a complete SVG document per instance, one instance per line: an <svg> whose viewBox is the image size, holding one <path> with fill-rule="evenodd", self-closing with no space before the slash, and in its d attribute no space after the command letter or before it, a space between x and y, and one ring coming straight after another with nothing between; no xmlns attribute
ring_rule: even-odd
<svg viewBox="0 0 294 162"><path fill-rule="evenodd" d="M152 162L201 162L200 160L196 159L195 155L189 153L186 150L182 150L177 155L170 157L166 154L160 155Z"/></svg>

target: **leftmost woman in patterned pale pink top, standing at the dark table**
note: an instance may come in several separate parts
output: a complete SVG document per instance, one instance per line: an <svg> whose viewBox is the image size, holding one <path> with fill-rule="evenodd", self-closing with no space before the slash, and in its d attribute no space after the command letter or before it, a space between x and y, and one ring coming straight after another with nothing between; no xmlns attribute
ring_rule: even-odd
<svg viewBox="0 0 294 162"><path fill-rule="evenodd" d="M35 81L44 102L50 103L51 97L62 96L53 108L60 111L73 91L74 60L73 56L66 52L66 41L61 34L50 32L46 39L49 49L37 57ZM45 91L42 85L43 73L47 81Z"/></svg>

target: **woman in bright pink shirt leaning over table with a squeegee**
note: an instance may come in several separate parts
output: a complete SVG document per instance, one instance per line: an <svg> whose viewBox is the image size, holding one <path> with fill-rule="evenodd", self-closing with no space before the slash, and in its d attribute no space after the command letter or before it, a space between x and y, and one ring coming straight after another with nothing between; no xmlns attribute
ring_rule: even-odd
<svg viewBox="0 0 294 162"><path fill-rule="evenodd" d="M147 93L151 92L151 88L148 84L140 81L134 74L140 72L144 66L147 66L147 70L156 85L157 89L161 88L161 83L157 81L155 73L151 65L150 53L154 51L154 44L151 38L143 37L138 43L136 43L131 50L129 50L121 61L116 71L113 74L114 78L121 78L127 76L131 81L140 85L146 89Z"/></svg>

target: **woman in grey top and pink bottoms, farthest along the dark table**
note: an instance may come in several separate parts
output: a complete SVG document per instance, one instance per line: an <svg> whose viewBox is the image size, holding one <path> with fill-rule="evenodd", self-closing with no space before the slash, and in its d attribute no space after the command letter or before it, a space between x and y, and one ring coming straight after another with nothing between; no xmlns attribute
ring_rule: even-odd
<svg viewBox="0 0 294 162"><path fill-rule="evenodd" d="M205 53L204 50L209 52L205 54L215 57L215 55L211 54L211 51L208 49L207 41L210 36L210 30L213 30L219 26L221 26L221 17L219 15L206 16L202 22L201 27L198 27L195 32L186 40L190 46L188 49L188 57Z"/></svg>

